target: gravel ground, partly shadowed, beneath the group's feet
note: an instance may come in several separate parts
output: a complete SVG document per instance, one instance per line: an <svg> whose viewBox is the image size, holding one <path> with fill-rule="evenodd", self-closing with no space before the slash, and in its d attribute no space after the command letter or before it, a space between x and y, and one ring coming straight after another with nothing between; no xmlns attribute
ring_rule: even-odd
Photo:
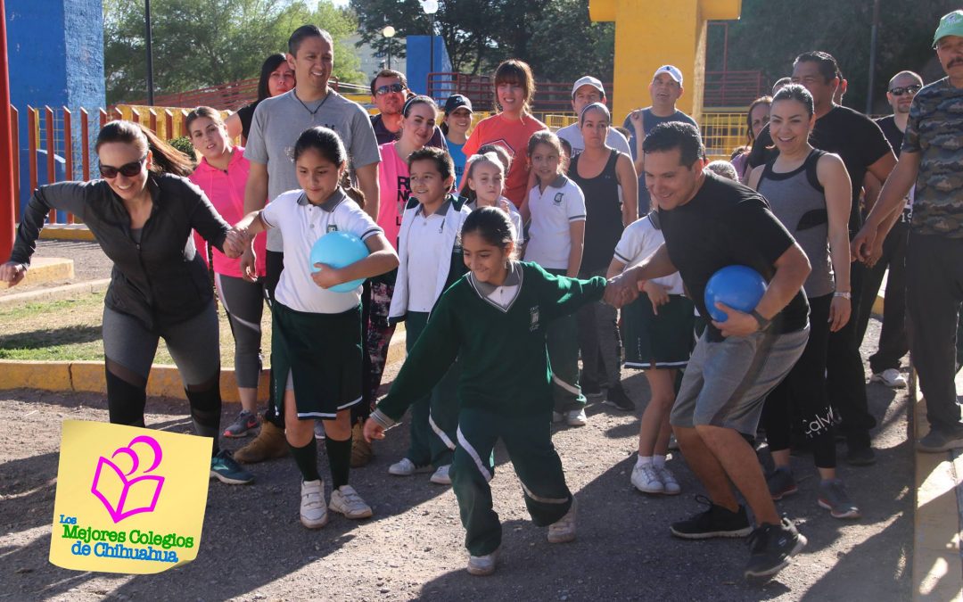
<svg viewBox="0 0 963 602"><path fill-rule="evenodd" d="M868 339L877 334L873 321ZM290 459L274 460L252 466L257 482L250 486L211 485L194 563L147 576L58 568L46 558L60 423L106 420L106 406L92 395L0 392L0 599L910 598L914 492L902 392L869 386L872 411L880 419L874 432L879 461L867 468L841 466L863 518L842 522L820 510L812 460L794 457L800 490L779 507L794 518L809 545L776 579L747 584L742 541L669 536L670 521L700 509L693 496L701 488L683 458L669 461L683 486L681 496L649 497L629 484L648 391L639 373L627 371L626 377L630 394L641 402L637 411L596 403L588 408L588 426L561 428L554 435L580 503L576 542L551 545L545 530L533 526L504 449L498 450L492 488L505 537L498 572L490 578L464 570L464 532L451 489L429 484L429 475L386 474L406 449L406 427L389 432L374 462L352 472L352 484L375 510L372 519L351 522L338 515L319 532L303 529L297 470ZM225 406L223 419L233 418L237 409ZM189 432L184 404L151 400L148 410L152 428Z"/></svg>

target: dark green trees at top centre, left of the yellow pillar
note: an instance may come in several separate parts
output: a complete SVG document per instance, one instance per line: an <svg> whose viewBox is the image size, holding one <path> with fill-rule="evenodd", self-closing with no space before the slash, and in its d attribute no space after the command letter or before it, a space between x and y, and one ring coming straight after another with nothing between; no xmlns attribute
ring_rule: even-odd
<svg viewBox="0 0 963 602"><path fill-rule="evenodd" d="M443 0L436 31L445 40L455 71L490 72L509 57L522 59L542 80L574 79L586 73L612 77L614 29L592 23L588 0ZM387 48L385 25L396 37L428 35L430 19L418 0L351 0L362 41ZM395 54L404 56L401 44ZM573 75L576 74L576 75Z"/></svg>

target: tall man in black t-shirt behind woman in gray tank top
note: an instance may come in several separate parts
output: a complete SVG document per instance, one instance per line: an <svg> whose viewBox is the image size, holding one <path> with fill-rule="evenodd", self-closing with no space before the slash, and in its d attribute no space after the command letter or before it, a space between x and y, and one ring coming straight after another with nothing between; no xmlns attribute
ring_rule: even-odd
<svg viewBox="0 0 963 602"><path fill-rule="evenodd" d="M796 57L793 83L801 84L813 95L816 125L810 142L820 150L838 154L846 164L852 182L852 208L849 212L849 236L852 237L862 222L859 203L864 176L870 172L877 180L885 182L896 166L896 155L871 118L833 102L833 95L840 86L840 70L832 56L815 51ZM752 145L748 159L750 169L773 158L775 151L768 150L772 145L767 126ZM850 301L853 315L857 316L864 272L861 263L853 263L849 272ZM875 455L870 447L870 429L876 426L876 420L870 413L866 397L866 374L859 353L855 320L829 334L826 396L843 417L840 431L846 435L846 461L854 465L872 464Z"/></svg>

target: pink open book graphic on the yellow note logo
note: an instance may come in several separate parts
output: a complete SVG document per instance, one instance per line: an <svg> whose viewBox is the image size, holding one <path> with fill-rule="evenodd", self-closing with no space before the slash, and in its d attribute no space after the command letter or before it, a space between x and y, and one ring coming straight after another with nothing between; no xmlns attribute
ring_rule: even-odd
<svg viewBox="0 0 963 602"><path fill-rule="evenodd" d="M141 457L135 446L146 446L148 449L142 449L143 453L152 457L149 466L140 472ZM103 503L115 523L134 514L154 511L164 486L164 477L148 474L160 465L163 456L156 439L148 435L134 437L127 447L118 448L111 458L116 459L118 455L129 458L130 469L124 472L111 459L101 457L97 460L91 484L91 493Z"/></svg>

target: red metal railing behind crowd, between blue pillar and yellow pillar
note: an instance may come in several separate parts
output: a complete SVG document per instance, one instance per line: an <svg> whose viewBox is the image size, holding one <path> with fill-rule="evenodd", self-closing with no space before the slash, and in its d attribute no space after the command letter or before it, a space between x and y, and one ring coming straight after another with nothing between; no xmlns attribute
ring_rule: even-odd
<svg viewBox="0 0 963 602"><path fill-rule="evenodd" d="M604 84L611 91L612 84ZM491 77L487 75L467 75L455 72L428 74L428 95L444 102L451 94L464 94L472 101L476 111L490 111L494 108L494 95ZM612 98L607 98L612 103ZM572 110L571 82L537 82L533 99L534 113L565 113Z"/></svg>

